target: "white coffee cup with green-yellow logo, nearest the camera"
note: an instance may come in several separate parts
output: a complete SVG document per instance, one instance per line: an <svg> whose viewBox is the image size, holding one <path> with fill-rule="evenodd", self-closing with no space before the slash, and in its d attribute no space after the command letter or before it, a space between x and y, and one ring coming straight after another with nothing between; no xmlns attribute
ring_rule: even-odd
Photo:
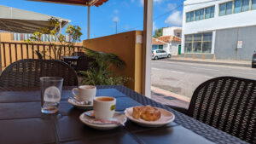
<svg viewBox="0 0 256 144"><path fill-rule="evenodd" d="M93 111L96 119L110 120L115 112L116 100L110 96L100 96L93 100Z"/></svg>

